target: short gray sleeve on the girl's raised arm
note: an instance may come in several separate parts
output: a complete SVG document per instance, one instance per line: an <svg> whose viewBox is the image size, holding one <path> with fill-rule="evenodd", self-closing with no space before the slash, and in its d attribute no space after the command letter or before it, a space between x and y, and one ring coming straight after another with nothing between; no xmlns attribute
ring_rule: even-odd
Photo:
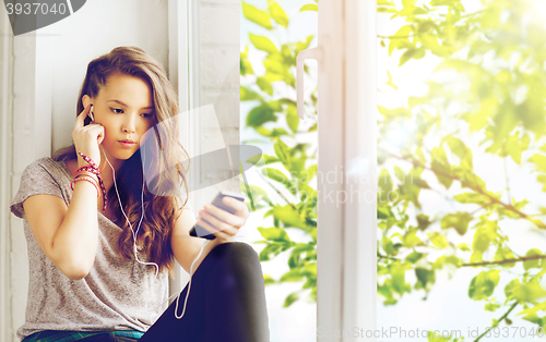
<svg viewBox="0 0 546 342"><path fill-rule="evenodd" d="M16 217L24 217L23 201L33 195L47 194L63 198L61 187L45 164L46 160L41 158L23 170L19 191L10 205L11 212Z"/></svg>

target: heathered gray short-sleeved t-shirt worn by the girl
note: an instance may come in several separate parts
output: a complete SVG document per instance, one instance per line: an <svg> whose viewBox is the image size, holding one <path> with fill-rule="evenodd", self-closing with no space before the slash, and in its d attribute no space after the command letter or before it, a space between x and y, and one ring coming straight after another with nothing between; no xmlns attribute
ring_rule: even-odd
<svg viewBox="0 0 546 342"><path fill-rule="evenodd" d="M64 162L40 158L25 168L11 211L24 220L29 282L23 339L40 330L146 331L168 306L168 272L155 278L155 266L122 261L118 254L121 228L97 209L98 247L90 273L81 280L64 276L39 247L22 203L32 195L58 196L69 206L72 175ZM135 228L133 228L135 229ZM139 253L141 261L150 261ZM147 309L146 309L147 305Z"/></svg>

